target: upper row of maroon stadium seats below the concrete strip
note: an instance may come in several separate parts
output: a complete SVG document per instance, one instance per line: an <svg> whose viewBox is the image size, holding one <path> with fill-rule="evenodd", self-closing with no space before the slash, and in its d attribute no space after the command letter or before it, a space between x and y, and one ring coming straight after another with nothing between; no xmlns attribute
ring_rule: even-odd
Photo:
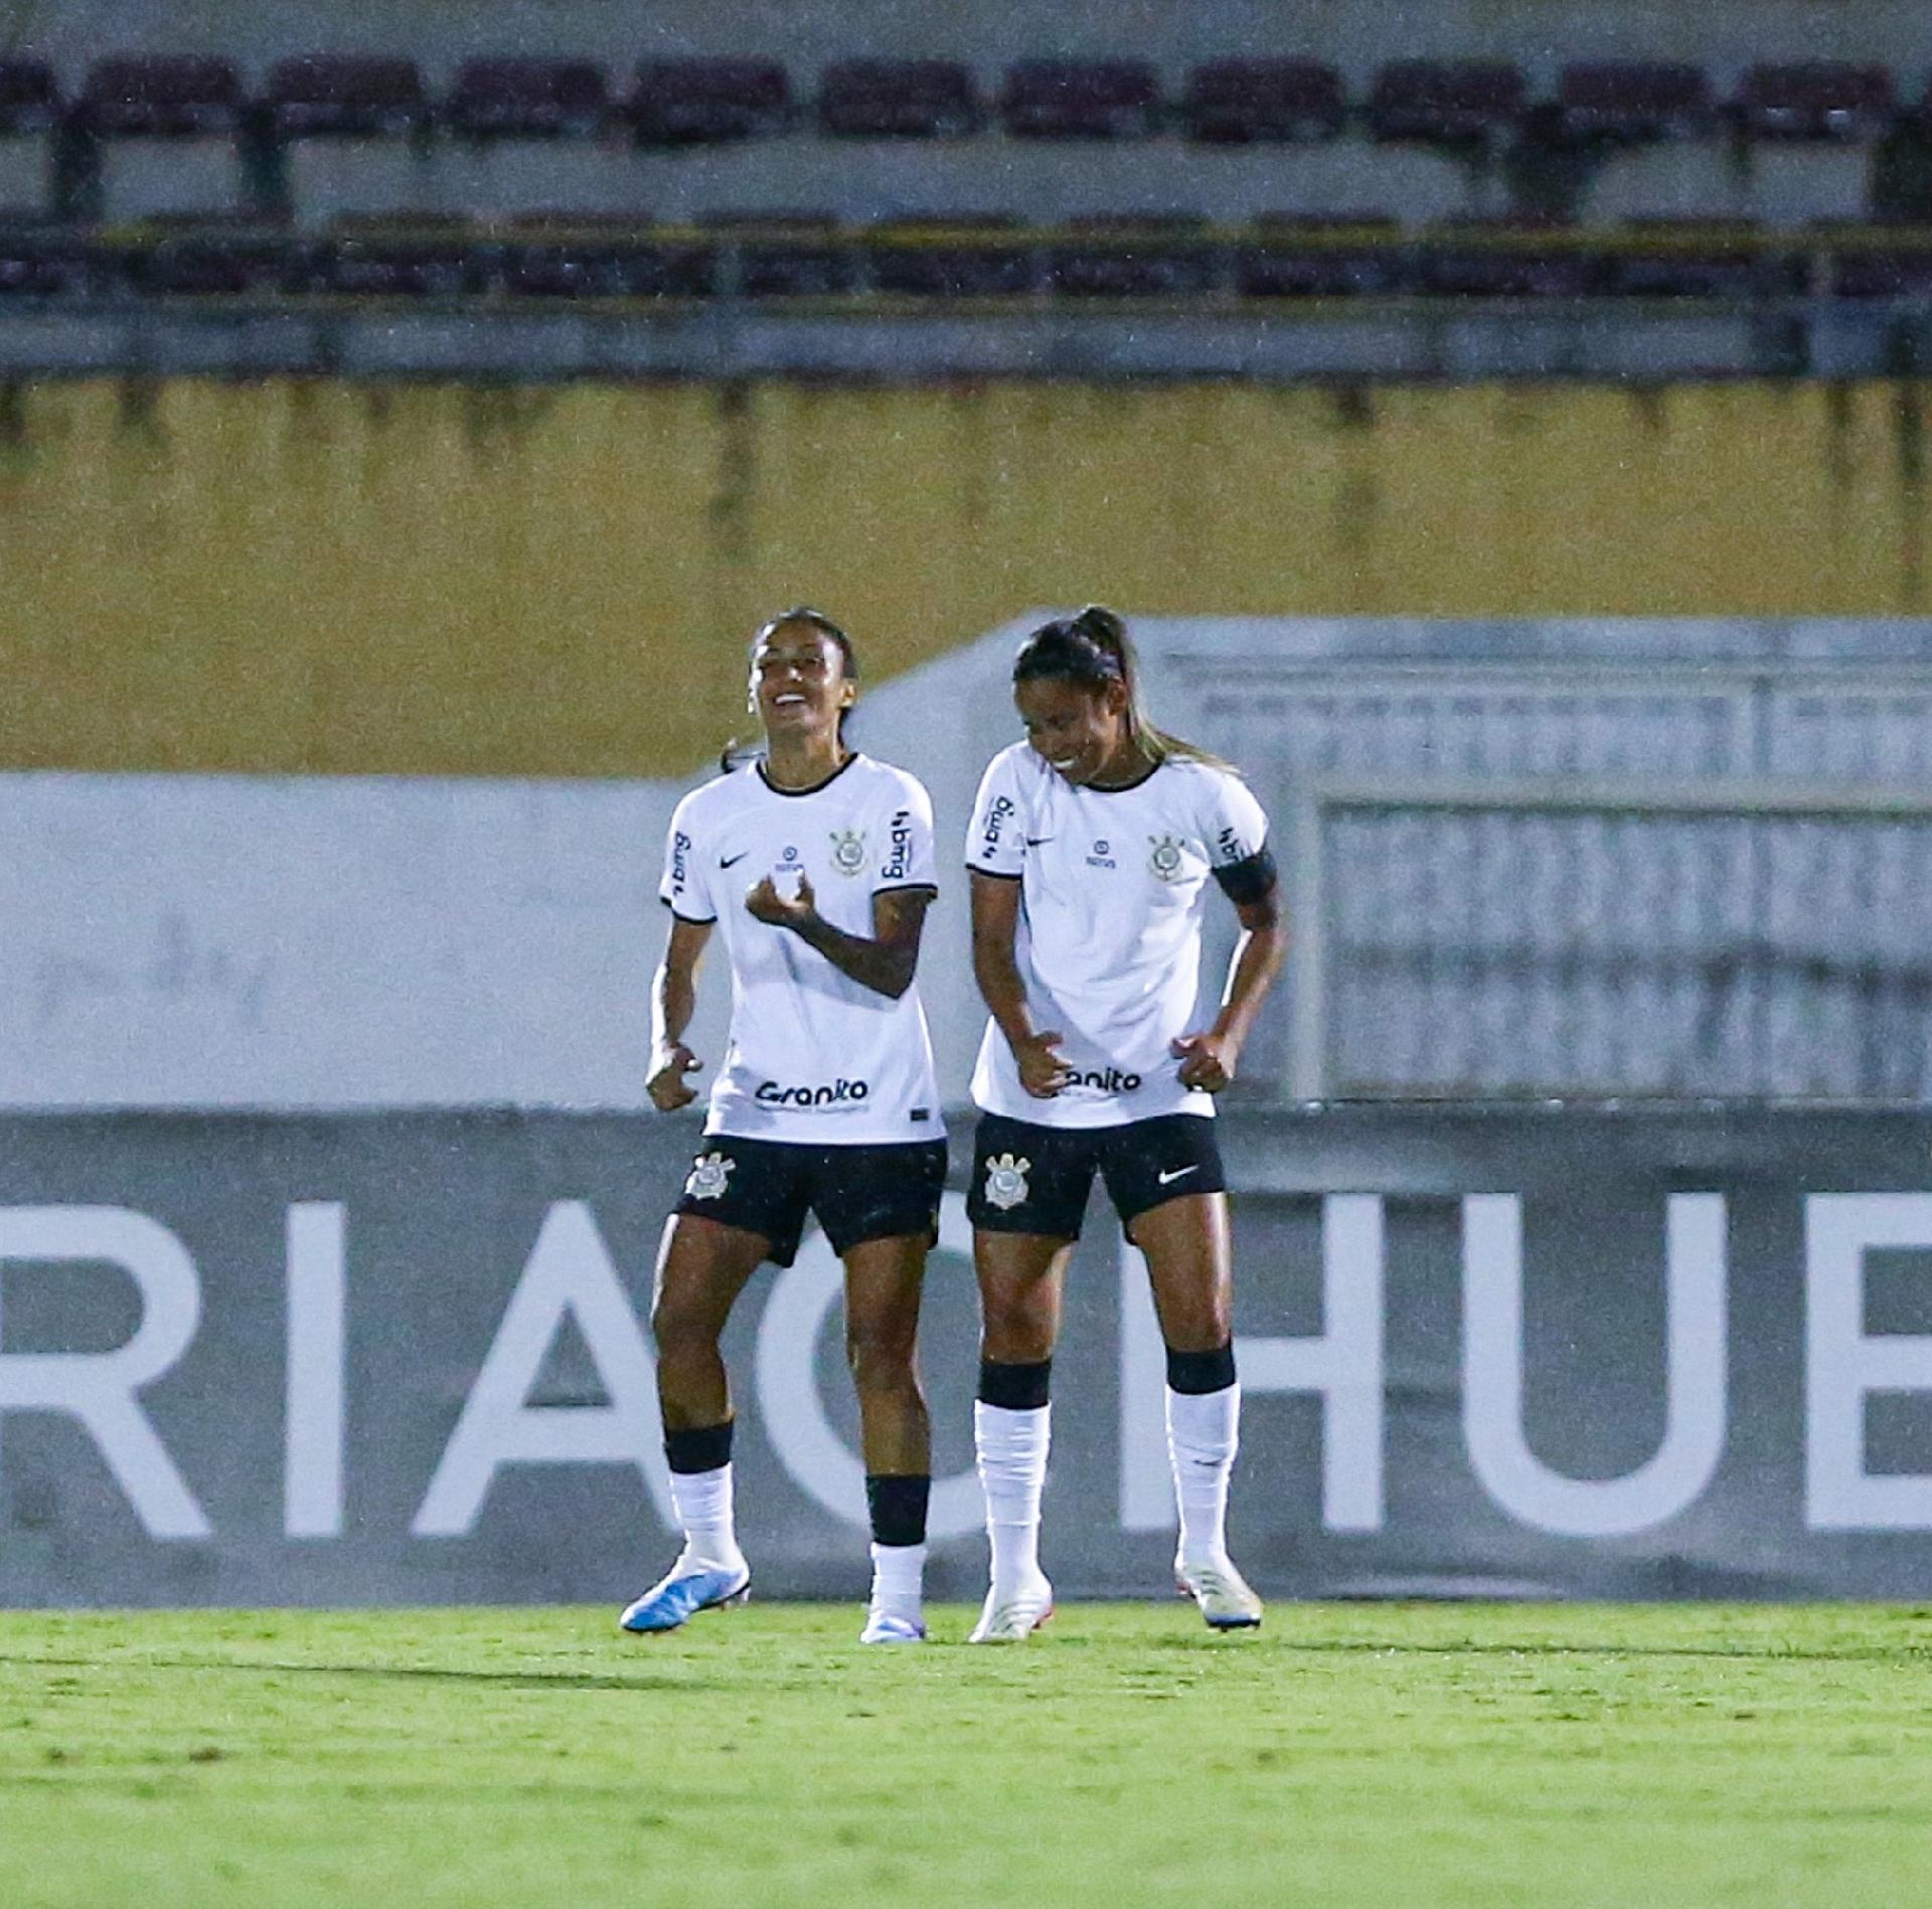
<svg viewBox="0 0 1932 1909"><path fill-rule="evenodd" d="M1198 141L1331 139L1360 120L1376 139L1439 145L1534 135L1559 143L1700 139L1862 139L1926 116L1878 64L1760 64L1719 100L1710 75L1681 62L1578 62L1555 95L1534 98L1511 62L1403 60L1352 102L1318 60L1211 60L1179 95L1150 60L1022 60L987 97L952 60L838 60L810 100L781 62L645 60L630 91L593 60L473 58L437 98L413 60L303 56L276 62L249 95L236 62L139 54L95 62L62 93L46 62L0 60L0 131L54 125L91 139L240 135L558 139L620 131L645 145L757 139L813 124L831 137L954 139L997 125L1014 139Z"/></svg>

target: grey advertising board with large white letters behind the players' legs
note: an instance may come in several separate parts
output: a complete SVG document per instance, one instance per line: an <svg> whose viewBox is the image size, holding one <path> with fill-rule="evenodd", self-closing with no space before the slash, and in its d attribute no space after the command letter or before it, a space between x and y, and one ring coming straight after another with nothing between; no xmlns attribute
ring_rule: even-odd
<svg viewBox="0 0 1932 1909"><path fill-rule="evenodd" d="M0 1123L0 1602L616 1606L670 1556L639 1320L696 1123ZM1233 1531L1273 1594L1917 1596L1932 1571L1918 1112L1235 1114ZM956 1123L954 1189L966 1123ZM929 1278L933 1589L974 1596L960 1197ZM759 1589L858 1596L823 1241L732 1324ZM1157 1594L1161 1349L1095 1210L1045 1562Z"/></svg>

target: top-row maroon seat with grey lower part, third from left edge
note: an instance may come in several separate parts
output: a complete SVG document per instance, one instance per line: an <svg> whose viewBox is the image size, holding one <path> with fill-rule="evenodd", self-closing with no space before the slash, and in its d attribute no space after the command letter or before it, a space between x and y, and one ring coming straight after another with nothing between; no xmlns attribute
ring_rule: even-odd
<svg viewBox="0 0 1932 1909"><path fill-rule="evenodd" d="M305 224L440 199L433 114L413 60L278 60L263 97L274 201Z"/></svg>

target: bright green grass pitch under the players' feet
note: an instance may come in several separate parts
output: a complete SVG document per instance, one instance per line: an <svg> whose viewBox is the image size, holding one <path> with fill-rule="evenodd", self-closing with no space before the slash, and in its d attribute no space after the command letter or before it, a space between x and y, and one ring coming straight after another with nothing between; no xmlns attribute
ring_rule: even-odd
<svg viewBox="0 0 1932 1909"><path fill-rule="evenodd" d="M1932 1901L1932 1612L0 1614L0 1903Z"/></svg>

